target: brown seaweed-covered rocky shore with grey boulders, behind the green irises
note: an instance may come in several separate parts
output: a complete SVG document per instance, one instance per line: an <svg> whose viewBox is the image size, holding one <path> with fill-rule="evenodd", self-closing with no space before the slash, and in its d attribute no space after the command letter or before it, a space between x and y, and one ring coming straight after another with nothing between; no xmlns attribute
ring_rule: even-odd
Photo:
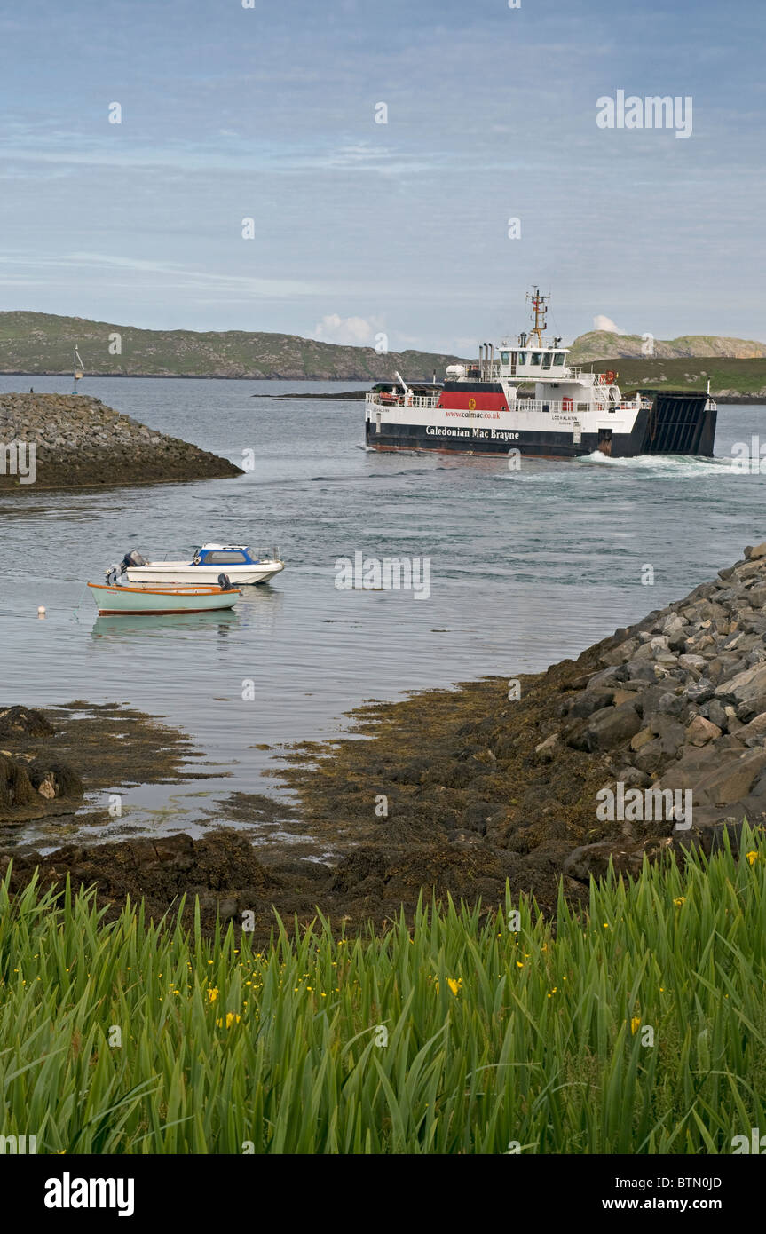
<svg viewBox="0 0 766 1234"><path fill-rule="evenodd" d="M744 819L766 823L766 543L577 660L519 676L518 690L485 679L354 717L354 735L308 743L280 772L301 798L284 826L332 860L306 860L279 837L254 849L228 828L43 858L6 848L0 874L11 858L14 886L36 868L43 881L69 874L95 884L109 912L128 895L153 914L199 896L206 928L250 909L268 938L274 908L380 927L402 906L411 913L421 891L491 911L506 880L553 913L561 879L585 902L609 861L636 874L644 858L710 853L724 832L736 848ZM39 796L47 764L39 752L32 763ZM237 798L243 823L264 802Z"/></svg>

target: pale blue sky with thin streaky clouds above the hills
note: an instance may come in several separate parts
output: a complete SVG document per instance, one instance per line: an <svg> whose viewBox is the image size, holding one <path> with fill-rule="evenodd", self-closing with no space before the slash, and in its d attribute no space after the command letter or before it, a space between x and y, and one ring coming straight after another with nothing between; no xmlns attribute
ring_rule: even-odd
<svg viewBox="0 0 766 1234"><path fill-rule="evenodd" d="M566 341L766 341L765 46L762 0L4 0L0 310L470 355L538 283Z"/></svg>

